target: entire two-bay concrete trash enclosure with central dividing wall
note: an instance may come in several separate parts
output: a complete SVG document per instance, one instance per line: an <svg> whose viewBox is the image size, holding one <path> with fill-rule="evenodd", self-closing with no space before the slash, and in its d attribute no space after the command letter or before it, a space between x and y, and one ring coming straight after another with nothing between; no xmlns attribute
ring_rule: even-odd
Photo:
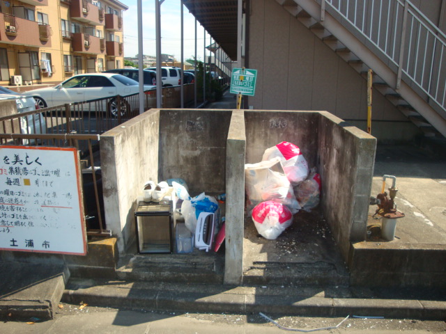
<svg viewBox="0 0 446 334"><path fill-rule="evenodd" d="M320 207L346 262L351 242L366 238L376 138L326 111L151 109L100 141L105 218L120 253L134 242L143 183L181 177L192 193L226 193L224 283L242 283L244 166L282 141L321 174Z"/></svg>

